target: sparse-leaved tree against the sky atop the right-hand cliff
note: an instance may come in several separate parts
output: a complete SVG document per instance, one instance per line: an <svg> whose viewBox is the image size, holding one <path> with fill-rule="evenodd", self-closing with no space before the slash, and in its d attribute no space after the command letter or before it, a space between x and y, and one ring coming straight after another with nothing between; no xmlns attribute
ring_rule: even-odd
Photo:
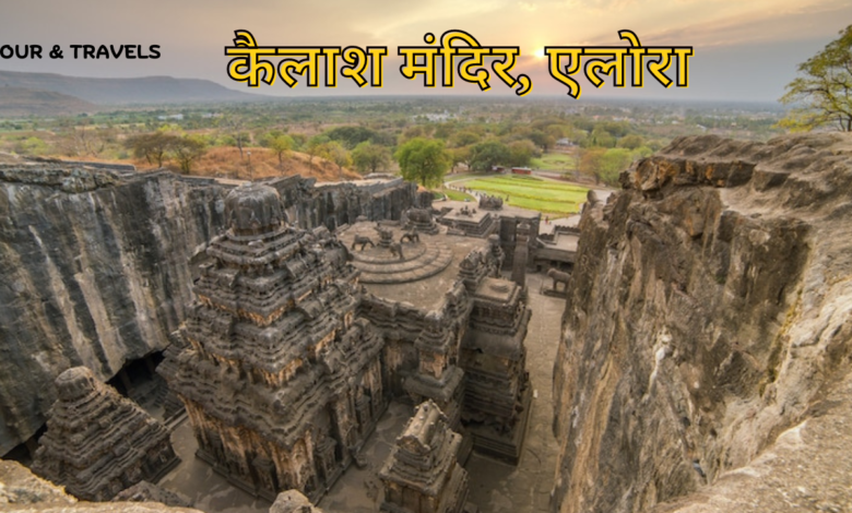
<svg viewBox="0 0 852 513"><path fill-rule="evenodd" d="M786 84L783 104L803 104L779 123L792 130L813 130L835 124L852 131L852 25L840 31L840 38L805 62L797 76Z"/></svg>

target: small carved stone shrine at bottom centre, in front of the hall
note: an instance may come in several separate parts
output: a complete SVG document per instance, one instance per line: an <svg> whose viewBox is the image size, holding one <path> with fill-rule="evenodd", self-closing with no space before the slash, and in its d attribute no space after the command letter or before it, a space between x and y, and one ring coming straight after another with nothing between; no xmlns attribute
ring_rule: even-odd
<svg viewBox="0 0 852 513"><path fill-rule="evenodd" d="M468 473L458 463L462 437L431 401L417 407L379 472L384 485L381 511L461 513Z"/></svg>

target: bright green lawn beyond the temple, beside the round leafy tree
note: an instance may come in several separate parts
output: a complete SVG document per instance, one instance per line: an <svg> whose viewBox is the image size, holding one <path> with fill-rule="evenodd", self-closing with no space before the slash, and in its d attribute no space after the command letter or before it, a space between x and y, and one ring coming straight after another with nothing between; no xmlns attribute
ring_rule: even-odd
<svg viewBox="0 0 852 513"><path fill-rule="evenodd" d="M579 186L545 181L535 177L496 176L464 182L464 187L496 194L509 204L545 214L567 215L580 212L589 191Z"/></svg>

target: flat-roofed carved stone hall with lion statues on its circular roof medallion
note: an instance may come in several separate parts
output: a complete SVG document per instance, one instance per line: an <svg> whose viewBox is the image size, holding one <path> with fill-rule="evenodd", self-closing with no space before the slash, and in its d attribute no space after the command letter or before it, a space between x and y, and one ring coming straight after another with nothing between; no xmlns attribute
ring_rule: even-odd
<svg viewBox="0 0 852 513"><path fill-rule="evenodd" d="M384 224L400 240L409 229ZM344 241L369 234L356 223ZM388 386L414 404L434 402L471 449L517 464L532 387L524 338L531 318L526 289L500 277L508 266L501 240L421 234L403 260L387 250L354 250L365 293L360 312L384 342Z"/></svg>

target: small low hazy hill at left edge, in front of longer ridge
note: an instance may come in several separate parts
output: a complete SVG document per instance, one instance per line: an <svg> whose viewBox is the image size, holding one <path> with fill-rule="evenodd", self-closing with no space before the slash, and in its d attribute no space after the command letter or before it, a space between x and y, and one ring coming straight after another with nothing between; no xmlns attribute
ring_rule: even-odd
<svg viewBox="0 0 852 513"><path fill-rule="evenodd" d="M0 118L74 116L97 110L95 104L62 93L0 85Z"/></svg>

